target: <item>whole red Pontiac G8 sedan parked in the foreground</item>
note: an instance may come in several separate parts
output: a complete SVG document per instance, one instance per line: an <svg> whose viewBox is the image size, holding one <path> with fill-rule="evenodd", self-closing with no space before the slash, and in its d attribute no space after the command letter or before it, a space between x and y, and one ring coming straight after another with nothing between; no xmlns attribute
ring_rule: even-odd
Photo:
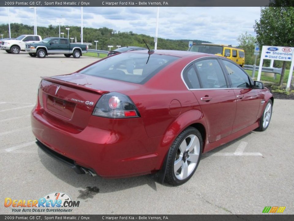
<svg viewBox="0 0 294 221"><path fill-rule="evenodd" d="M75 73L42 77L32 110L39 147L77 173L155 173L183 184L201 154L266 130L273 95L224 57L125 52Z"/></svg>

